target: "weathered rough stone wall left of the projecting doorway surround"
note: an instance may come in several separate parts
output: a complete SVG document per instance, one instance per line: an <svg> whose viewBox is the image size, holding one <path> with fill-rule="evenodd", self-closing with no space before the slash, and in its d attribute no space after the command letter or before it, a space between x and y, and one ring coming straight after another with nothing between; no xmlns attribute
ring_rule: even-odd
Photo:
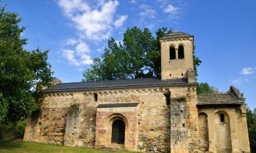
<svg viewBox="0 0 256 153"><path fill-rule="evenodd" d="M79 104L75 115L69 114L73 104ZM45 95L38 118L31 118L27 124L24 141L93 147L97 105L92 94L83 92Z"/></svg>

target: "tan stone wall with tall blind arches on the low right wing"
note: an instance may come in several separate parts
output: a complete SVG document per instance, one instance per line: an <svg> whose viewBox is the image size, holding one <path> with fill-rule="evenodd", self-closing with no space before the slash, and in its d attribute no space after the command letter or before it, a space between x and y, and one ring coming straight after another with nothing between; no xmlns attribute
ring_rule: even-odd
<svg viewBox="0 0 256 153"><path fill-rule="evenodd" d="M208 116L209 152L250 152L244 105L200 106L198 113ZM225 122L220 114L225 114Z"/></svg>

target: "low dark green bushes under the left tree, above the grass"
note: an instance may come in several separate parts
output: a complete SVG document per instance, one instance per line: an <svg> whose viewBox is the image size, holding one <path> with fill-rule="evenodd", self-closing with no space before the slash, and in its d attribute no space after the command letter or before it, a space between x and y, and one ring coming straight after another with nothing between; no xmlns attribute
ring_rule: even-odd
<svg viewBox="0 0 256 153"><path fill-rule="evenodd" d="M10 140L23 137L27 120L19 121L16 124L0 124L0 140Z"/></svg>

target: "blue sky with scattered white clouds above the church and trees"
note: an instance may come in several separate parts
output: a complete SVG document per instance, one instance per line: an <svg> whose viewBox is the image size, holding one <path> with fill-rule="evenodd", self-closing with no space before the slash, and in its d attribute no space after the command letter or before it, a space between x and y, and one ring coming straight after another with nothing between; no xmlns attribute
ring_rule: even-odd
<svg viewBox="0 0 256 153"><path fill-rule="evenodd" d="M169 27L195 35L199 82L221 91L238 87L256 107L256 1L184 0L2 0L18 12L27 49L51 50L48 62L62 82L81 81L110 37L122 40L127 27L154 33Z"/></svg>

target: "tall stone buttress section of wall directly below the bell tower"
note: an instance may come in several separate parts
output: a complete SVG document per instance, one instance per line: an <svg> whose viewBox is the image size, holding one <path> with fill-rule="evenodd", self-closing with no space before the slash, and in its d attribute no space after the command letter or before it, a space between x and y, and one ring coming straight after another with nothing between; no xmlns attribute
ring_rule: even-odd
<svg viewBox="0 0 256 153"><path fill-rule="evenodd" d="M171 91L171 152L198 152L196 86L169 88Z"/></svg>

